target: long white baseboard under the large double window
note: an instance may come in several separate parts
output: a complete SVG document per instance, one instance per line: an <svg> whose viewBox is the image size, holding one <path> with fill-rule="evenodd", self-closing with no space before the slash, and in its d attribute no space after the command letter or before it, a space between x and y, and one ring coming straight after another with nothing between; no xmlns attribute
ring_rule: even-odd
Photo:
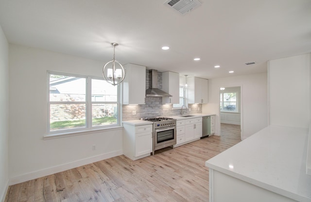
<svg viewBox="0 0 311 202"><path fill-rule="evenodd" d="M85 158L85 159L81 159L78 161L73 161L67 164L62 164L62 165L58 165L58 166L54 166L51 168L46 168L46 169L41 169L41 170L36 170L33 172L29 172L23 175L19 175L16 177L12 177L9 179L9 185L15 185L18 183L22 183L22 182L26 182L28 180L33 180L39 177L44 177L47 175L51 175L57 172L61 172L64 170L68 170L71 168L77 168L80 166L84 166L86 164L91 164L97 161L101 161L107 158L111 158L111 157L115 157L115 156L119 156L122 155L123 151L122 150L117 150L117 151L113 151L113 152L108 152L108 153L104 153L104 154L100 154L97 156L92 156L89 158Z"/></svg>

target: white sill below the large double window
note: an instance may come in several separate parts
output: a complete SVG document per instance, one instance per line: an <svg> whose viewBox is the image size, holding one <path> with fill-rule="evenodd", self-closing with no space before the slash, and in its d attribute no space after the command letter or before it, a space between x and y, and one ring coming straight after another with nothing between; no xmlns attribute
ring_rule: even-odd
<svg viewBox="0 0 311 202"><path fill-rule="evenodd" d="M123 128L123 126L93 129L93 130L87 130L87 131L74 131L74 132L67 132L67 133L49 134L49 135L44 135L43 140L71 137L71 136L77 136L77 135L88 135L88 134L102 133L102 132L107 132L107 131L116 131L116 130L120 130L121 128Z"/></svg>

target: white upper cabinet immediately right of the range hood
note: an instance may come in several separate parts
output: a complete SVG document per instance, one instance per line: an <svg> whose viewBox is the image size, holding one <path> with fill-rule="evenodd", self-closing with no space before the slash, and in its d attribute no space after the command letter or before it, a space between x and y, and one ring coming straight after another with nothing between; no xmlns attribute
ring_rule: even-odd
<svg viewBox="0 0 311 202"><path fill-rule="evenodd" d="M179 103L179 73L166 71L162 73L162 90L172 97L162 97L162 104Z"/></svg>

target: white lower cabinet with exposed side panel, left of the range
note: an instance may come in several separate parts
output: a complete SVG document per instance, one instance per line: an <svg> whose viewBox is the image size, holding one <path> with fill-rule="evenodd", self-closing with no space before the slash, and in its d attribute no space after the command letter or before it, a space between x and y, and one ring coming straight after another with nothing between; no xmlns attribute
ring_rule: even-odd
<svg viewBox="0 0 311 202"><path fill-rule="evenodd" d="M123 123L123 154L132 160L149 156L152 152L152 124L134 126Z"/></svg>

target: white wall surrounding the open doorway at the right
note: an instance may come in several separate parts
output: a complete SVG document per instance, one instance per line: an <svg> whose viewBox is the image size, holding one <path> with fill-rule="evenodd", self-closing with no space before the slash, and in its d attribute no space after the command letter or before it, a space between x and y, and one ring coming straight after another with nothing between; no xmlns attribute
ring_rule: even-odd
<svg viewBox="0 0 311 202"><path fill-rule="evenodd" d="M219 88L241 86L242 139L253 135L268 125L267 73L250 74L208 80L208 103L203 113L216 114L215 135L219 135Z"/></svg>

